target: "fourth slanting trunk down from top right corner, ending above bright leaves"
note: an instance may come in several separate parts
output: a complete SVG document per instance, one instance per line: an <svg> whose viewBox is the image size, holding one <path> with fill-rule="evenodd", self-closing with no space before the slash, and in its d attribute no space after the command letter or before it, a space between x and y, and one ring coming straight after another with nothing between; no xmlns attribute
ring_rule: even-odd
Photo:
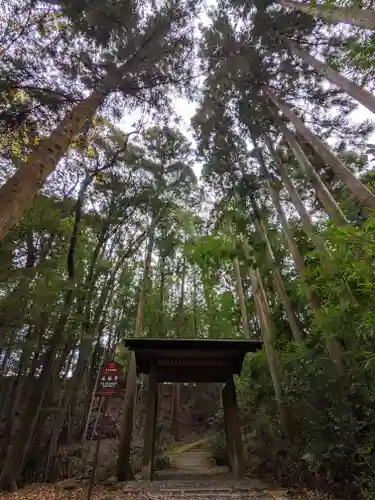
<svg viewBox="0 0 375 500"><path fill-rule="evenodd" d="M276 117L275 119L280 132L283 134L285 140L287 141L303 173L311 181L314 191L316 192L320 202L322 203L327 215L332 218L337 226L345 226L346 224L348 224L345 215L342 213L335 199L328 191L327 187L315 171L314 167L311 165L309 159L303 152L301 146L296 141L294 135L285 126L282 120Z"/></svg>

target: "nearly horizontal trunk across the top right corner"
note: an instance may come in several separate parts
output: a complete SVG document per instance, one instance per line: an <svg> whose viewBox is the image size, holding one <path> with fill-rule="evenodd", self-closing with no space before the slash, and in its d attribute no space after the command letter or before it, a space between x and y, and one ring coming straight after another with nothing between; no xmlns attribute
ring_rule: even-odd
<svg viewBox="0 0 375 500"><path fill-rule="evenodd" d="M305 14L321 16L329 23L344 23L350 26L375 30L375 11L372 9L335 7L333 5L319 5L316 2L296 2L294 0L279 0L279 3L284 7L290 7Z"/></svg>

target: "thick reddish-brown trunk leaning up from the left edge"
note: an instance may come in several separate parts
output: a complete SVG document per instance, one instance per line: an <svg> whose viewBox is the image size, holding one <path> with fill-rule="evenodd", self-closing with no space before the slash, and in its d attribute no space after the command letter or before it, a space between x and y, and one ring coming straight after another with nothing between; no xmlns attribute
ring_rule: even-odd
<svg viewBox="0 0 375 500"><path fill-rule="evenodd" d="M69 111L47 139L44 139L21 163L17 172L0 188L0 240L20 220L24 211L43 186L47 177L68 151L108 94L105 85L99 86L86 99Z"/></svg>

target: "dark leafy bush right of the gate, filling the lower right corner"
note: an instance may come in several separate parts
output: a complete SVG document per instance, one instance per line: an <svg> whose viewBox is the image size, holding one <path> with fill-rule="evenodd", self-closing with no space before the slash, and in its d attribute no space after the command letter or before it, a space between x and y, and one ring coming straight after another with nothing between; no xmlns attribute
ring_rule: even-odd
<svg viewBox="0 0 375 500"><path fill-rule="evenodd" d="M292 419L288 440L280 429L264 352L245 361L237 381L249 468L285 485L305 483L341 498L374 498L371 379L352 368L350 378L338 380L319 345L290 344L283 359L284 398Z"/></svg>

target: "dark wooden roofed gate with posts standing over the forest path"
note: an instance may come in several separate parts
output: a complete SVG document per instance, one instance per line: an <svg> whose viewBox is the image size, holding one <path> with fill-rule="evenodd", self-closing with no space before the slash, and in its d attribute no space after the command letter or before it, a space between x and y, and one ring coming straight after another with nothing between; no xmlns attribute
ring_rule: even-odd
<svg viewBox="0 0 375 500"><path fill-rule="evenodd" d="M244 475L242 437L233 376L239 375L246 353L262 348L261 341L212 339L127 339L126 347L132 351L128 367L124 403L125 436L120 438L121 462L128 463L133 432L136 377L149 378L146 399L142 476L151 481L154 475L155 428L158 412L158 384L220 383L224 410L225 434L229 465L235 479ZM121 464L120 464L121 465ZM121 467L120 467L121 469Z"/></svg>

